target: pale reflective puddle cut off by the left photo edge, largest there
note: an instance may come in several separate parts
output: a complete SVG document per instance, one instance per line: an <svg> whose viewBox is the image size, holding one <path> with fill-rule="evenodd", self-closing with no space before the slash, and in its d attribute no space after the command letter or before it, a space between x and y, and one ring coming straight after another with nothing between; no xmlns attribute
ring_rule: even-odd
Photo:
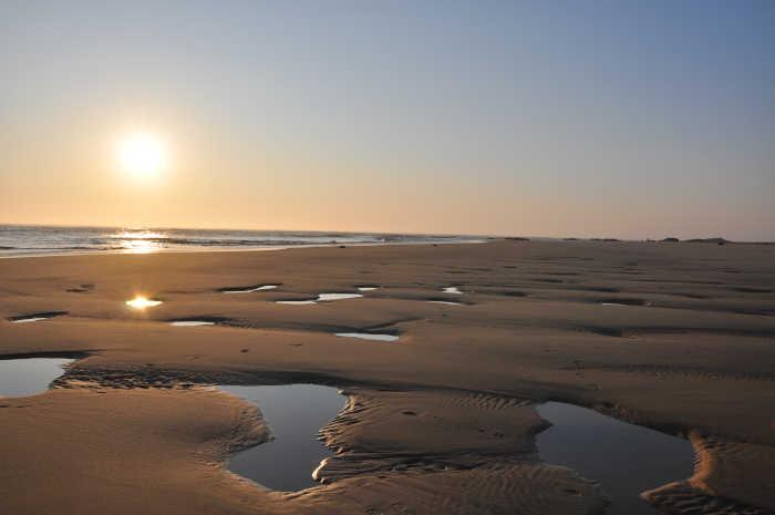
<svg viewBox="0 0 775 515"><path fill-rule="evenodd" d="M64 373L62 367L75 360L64 358L0 359L0 398L44 392Z"/></svg>

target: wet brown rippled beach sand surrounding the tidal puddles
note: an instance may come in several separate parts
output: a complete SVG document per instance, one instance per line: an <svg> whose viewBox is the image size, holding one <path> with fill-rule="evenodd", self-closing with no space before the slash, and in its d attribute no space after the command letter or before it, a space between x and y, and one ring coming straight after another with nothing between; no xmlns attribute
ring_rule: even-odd
<svg viewBox="0 0 775 515"><path fill-rule="evenodd" d="M256 285L279 286L224 292ZM602 513L600 486L541 462L547 400L690 439L694 474L644 493L654 507L773 513L773 290L764 245L0 259L0 354L80 358L52 390L0 399L2 513ZM278 303L324 292L363 297ZM321 431L323 483L271 492L226 468L268 437L260 412L210 385L292 382L349 401Z"/></svg>

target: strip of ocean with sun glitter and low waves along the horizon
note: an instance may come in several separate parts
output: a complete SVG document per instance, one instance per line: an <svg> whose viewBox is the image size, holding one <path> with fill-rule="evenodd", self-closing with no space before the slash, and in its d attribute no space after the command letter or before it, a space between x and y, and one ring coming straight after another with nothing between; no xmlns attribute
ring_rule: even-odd
<svg viewBox="0 0 775 515"><path fill-rule="evenodd" d="M272 249L328 245L473 243L486 237L298 230L218 230L0 225L0 257L182 250Z"/></svg>

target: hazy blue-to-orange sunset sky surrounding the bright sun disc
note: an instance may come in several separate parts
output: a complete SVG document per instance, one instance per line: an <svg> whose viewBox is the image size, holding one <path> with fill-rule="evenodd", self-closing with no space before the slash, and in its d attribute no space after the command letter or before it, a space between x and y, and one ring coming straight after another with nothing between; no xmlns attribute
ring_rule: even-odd
<svg viewBox="0 0 775 515"><path fill-rule="evenodd" d="M768 0L0 2L0 223L773 240L774 197Z"/></svg>

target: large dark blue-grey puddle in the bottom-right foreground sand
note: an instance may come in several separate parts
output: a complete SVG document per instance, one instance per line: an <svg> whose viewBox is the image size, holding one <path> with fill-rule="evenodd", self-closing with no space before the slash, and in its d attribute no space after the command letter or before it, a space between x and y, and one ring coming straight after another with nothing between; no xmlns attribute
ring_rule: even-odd
<svg viewBox="0 0 775 515"><path fill-rule="evenodd" d="M607 515L663 515L640 493L694 472L686 440L561 402L536 411L554 424L536 437L542 459L599 482L611 498Z"/></svg>

